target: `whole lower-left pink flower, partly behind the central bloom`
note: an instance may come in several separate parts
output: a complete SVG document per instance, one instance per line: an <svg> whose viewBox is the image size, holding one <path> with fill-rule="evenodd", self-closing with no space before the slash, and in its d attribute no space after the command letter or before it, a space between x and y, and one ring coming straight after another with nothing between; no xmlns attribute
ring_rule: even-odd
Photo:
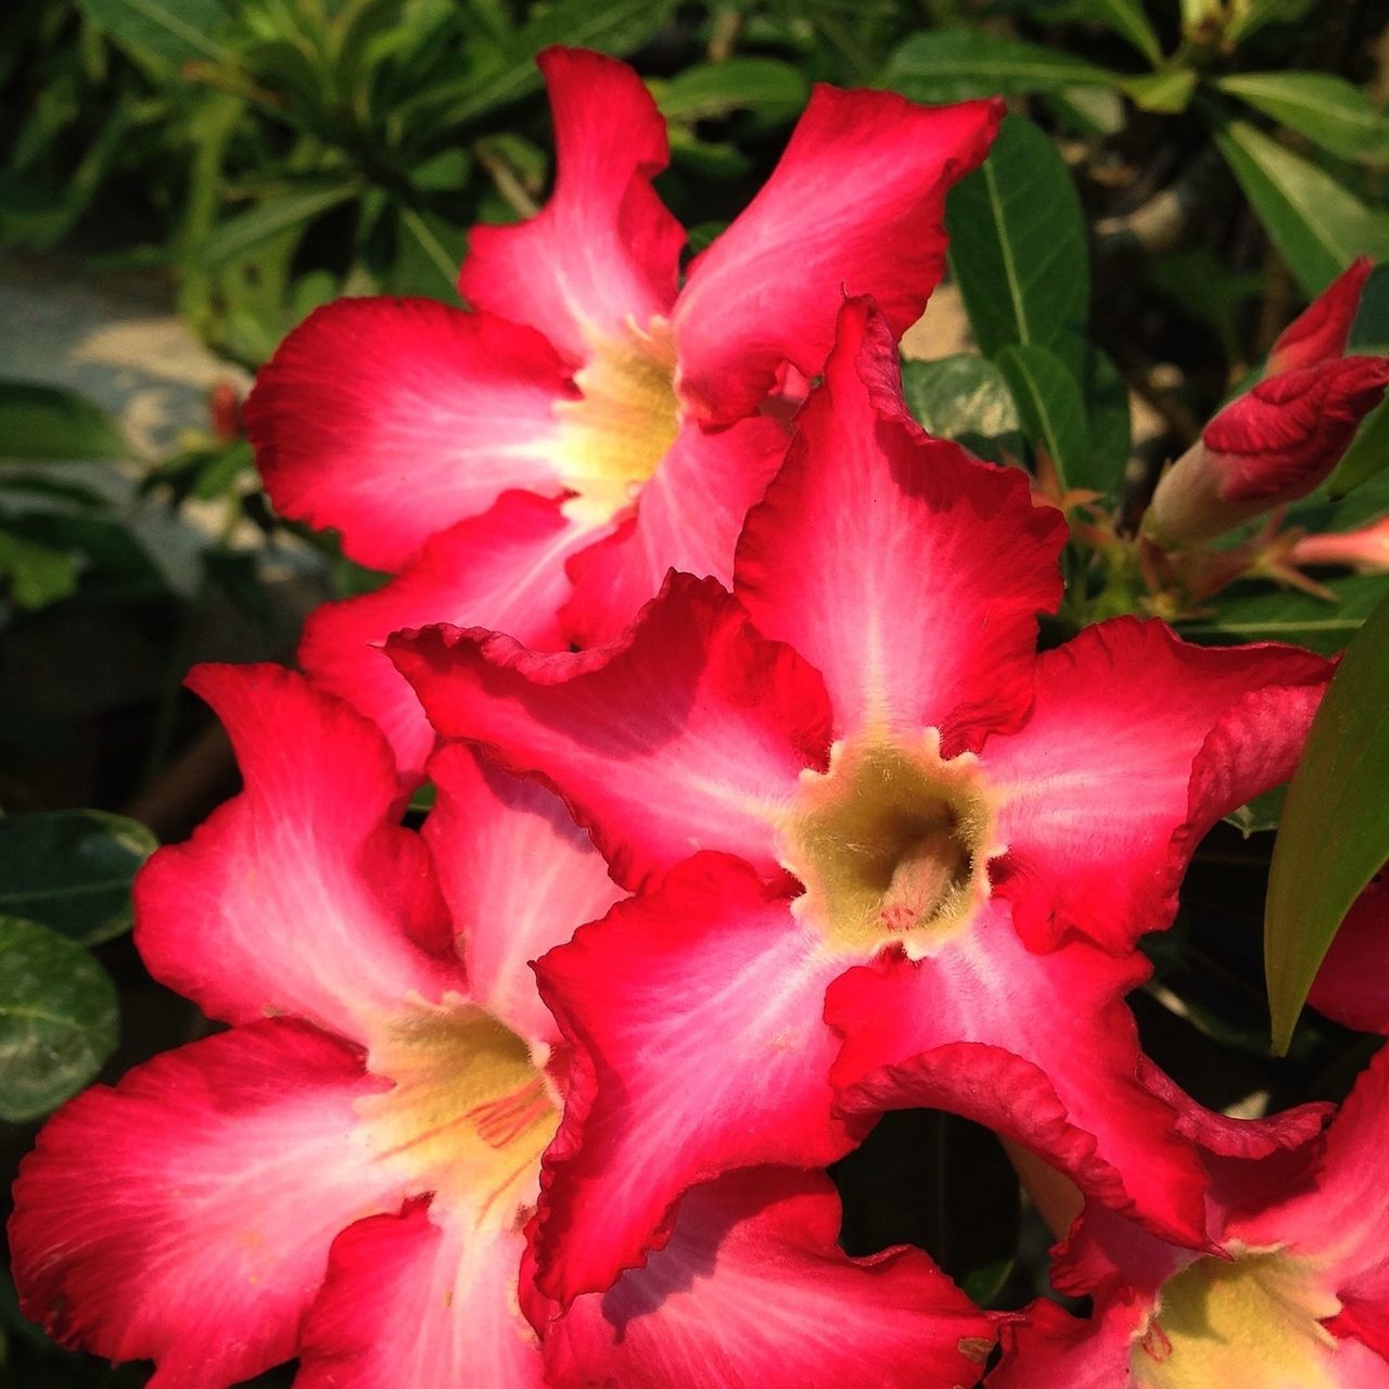
<svg viewBox="0 0 1389 1389"><path fill-rule="evenodd" d="M621 889L547 790L461 747L421 836L346 706L274 667L193 686L246 789L151 860L136 940L232 1026L43 1129L10 1225L29 1315L167 1389L290 1356L297 1389L974 1379L988 1318L915 1250L843 1256L800 1171L692 1192L644 1270L556 1322L522 1265L569 1063L525 961Z"/></svg>

